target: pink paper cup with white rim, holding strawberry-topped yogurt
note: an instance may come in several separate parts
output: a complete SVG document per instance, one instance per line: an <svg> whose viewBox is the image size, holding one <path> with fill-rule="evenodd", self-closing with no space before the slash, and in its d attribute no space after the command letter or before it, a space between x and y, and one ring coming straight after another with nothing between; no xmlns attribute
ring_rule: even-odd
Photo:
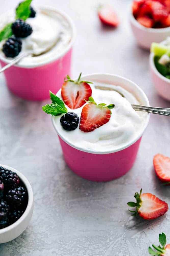
<svg viewBox="0 0 170 256"><path fill-rule="evenodd" d="M132 93L142 105L149 106L145 93L135 83L123 77L112 74L89 74L84 76L83 80L121 86ZM106 182L123 176L132 168L143 132L148 125L149 117L150 115L148 114L143 130L127 145L117 150L103 152L75 146L58 133L54 117L52 117L52 123L58 134L64 159L70 169L82 178Z"/></svg>

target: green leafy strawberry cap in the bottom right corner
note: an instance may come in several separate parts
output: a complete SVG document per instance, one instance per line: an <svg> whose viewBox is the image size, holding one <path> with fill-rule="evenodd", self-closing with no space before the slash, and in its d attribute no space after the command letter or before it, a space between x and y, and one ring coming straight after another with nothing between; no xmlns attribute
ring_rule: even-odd
<svg viewBox="0 0 170 256"><path fill-rule="evenodd" d="M151 255L157 255L157 256L161 256L162 254L165 254L166 249L165 249L165 245L166 245L166 236L165 234L162 232L162 234L159 234L159 242L161 244L161 246L155 246L154 244L152 244L152 247L155 249L153 250L151 247L148 248L149 254Z"/></svg>

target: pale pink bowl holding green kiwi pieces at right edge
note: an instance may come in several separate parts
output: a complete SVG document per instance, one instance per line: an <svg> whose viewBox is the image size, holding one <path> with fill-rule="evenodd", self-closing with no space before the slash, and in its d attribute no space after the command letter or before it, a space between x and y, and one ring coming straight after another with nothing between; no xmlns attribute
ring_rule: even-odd
<svg viewBox="0 0 170 256"><path fill-rule="evenodd" d="M150 54L149 63L151 70L151 78L156 91L161 97L170 101L170 79L162 76L161 73L156 69L153 52L151 52Z"/></svg>

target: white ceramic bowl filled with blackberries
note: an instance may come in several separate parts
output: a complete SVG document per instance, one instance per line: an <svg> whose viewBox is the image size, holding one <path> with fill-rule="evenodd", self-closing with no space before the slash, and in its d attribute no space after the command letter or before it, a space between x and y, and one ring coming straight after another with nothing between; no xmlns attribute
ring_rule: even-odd
<svg viewBox="0 0 170 256"><path fill-rule="evenodd" d="M0 164L0 166L3 166L4 168L9 169L12 172L16 172L17 175L19 176L20 180L22 180L22 182L24 183L24 185L28 191L28 205L27 205L27 208L26 208L25 212L23 213L23 215L19 218L19 220L17 220L12 225L10 225L6 228L0 229L0 244L1 244L1 243L9 242L9 241L17 238L28 227L29 222L32 217L32 213L33 213L34 203L33 203L32 188L31 188L31 185L30 185L29 181L27 180L27 178L25 178L25 176L22 173L18 172L16 169L14 169L12 167L9 167L9 166L3 165L3 164Z"/></svg>

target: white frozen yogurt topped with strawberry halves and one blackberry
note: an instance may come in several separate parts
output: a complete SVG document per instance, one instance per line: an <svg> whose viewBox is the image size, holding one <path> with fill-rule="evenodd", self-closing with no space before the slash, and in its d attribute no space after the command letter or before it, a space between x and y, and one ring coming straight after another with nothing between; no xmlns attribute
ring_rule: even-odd
<svg viewBox="0 0 170 256"><path fill-rule="evenodd" d="M79 126L74 131L66 131L60 124L61 116L55 116L54 121L58 134L61 135L61 137L68 143L87 151L93 150L95 152L104 152L116 150L127 145L143 130L146 123L146 116L148 114L135 111L131 104L139 104L139 102L131 93L120 86L99 82L90 84L90 86L92 89L92 97L97 104L115 104L115 107L111 110L112 114L109 122L92 132L85 133L79 129ZM106 90L96 89L96 86L104 87ZM115 89L125 97L122 97L119 92L107 90L107 88ZM62 99L61 90L59 90L57 96ZM68 111L75 112L79 118L81 116L83 106L72 110L66 105Z"/></svg>

